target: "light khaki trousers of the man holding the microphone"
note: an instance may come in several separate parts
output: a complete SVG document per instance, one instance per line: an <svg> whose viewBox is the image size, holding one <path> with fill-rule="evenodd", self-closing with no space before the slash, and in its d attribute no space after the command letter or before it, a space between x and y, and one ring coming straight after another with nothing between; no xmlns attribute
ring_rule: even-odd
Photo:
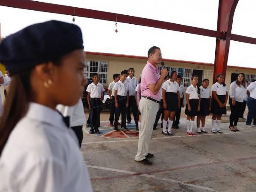
<svg viewBox="0 0 256 192"><path fill-rule="evenodd" d="M145 159L148 155L149 143L153 131L153 125L156 119L156 113L159 109L159 104L148 100L146 98L141 98L140 100L140 112L141 112L141 130L140 138L138 142L138 152L135 156L136 161Z"/></svg>

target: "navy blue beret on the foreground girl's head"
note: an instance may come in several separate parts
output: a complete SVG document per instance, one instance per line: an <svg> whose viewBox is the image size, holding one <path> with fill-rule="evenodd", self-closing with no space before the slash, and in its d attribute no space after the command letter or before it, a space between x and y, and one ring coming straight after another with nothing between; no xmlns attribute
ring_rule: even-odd
<svg viewBox="0 0 256 192"><path fill-rule="evenodd" d="M7 36L0 43L0 63L15 75L40 63L56 61L77 49L84 49L81 29L51 20Z"/></svg>

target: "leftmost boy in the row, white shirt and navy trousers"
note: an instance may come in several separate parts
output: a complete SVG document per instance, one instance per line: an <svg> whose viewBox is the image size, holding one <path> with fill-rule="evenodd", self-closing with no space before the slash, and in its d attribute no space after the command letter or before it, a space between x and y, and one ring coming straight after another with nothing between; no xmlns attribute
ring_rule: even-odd
<svg viewBox="0 0 256 192"><path fill-rule="evenodd" d="M104 87L99 83L99 74L92 73L93 82L88 85L86 91L88 92L87 101L90 109L90 134L94 131L100 134L100 105L104 98Z"/></svg>

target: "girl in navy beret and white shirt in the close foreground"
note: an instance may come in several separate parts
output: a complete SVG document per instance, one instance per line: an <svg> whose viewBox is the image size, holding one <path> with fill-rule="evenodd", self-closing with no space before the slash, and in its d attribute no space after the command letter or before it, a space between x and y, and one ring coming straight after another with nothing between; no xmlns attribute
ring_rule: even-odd
<svg viewBox="0 0 256 192"><path fill-rule="evenodd" d="M92 191L76 135L56 110L82 96L83 49L80 28L55 20L1 42L12 82L0 122L0 191Z"/></svg>

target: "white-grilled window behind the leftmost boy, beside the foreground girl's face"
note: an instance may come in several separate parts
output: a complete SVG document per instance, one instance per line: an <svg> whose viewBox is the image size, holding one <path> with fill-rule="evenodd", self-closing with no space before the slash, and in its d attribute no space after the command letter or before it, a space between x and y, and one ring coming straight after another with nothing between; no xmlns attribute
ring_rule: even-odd
<svg viewBox="0 0 256 192"><path fill-rule="evenodd" d="M84 77L92 78L92 73L98 73L101 84L108 84L108 62L107 61L85 61Z"/></svg>

